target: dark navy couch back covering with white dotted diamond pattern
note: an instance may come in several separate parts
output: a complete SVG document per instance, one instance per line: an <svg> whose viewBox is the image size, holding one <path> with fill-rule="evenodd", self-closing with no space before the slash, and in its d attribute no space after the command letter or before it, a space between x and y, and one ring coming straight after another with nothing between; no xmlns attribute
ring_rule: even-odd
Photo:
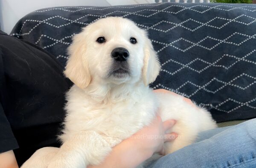
<svg viewBox="0 0 256 168"><path fill-rule="evenodd" d="M217 122L256 117L256 6L54 7L26 15L11 34L41 46L65 64L72 36L108 16L127 17L149 32L162 64L151 87L191 98Z"/></svg>

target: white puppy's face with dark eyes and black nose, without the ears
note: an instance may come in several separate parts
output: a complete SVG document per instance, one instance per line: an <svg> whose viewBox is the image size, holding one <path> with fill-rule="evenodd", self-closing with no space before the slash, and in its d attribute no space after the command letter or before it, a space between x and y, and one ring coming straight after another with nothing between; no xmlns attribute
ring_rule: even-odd
<svg viewBox="0 0 256 168"><path fill-rule="evenodd" d="M107 18L84 30L91 75L106 82L123 83L140 78L144 32L130 20Z"/></svg>

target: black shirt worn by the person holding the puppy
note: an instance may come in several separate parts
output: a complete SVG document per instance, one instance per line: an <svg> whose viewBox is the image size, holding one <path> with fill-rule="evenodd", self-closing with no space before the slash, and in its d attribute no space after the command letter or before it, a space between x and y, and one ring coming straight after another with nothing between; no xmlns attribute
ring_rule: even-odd
<svg viewBox="0 0 256 168"><path fill-rule="evenodd" d="M58 147L71 85L56 58L0 31L0 153L14 150L21 165L39 148Z"/></svg>

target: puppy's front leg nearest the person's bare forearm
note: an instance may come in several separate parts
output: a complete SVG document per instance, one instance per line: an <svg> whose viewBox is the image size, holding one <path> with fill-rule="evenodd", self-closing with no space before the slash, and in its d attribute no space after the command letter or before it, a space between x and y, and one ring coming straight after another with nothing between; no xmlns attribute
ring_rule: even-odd
<svg viewBox="0 0 256 168"><path fill-rule="evenodd" d="M98 165L110 151L110 144L99 133L79 132L63 143L48 168L86 168L87 165Z"/></svg>

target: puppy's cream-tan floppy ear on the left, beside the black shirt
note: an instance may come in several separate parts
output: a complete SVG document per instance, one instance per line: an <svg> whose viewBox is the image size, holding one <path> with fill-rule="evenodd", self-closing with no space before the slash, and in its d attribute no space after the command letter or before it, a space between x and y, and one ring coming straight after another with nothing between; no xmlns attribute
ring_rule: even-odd
<svg viewBox="0 0 256 168"><path fill-rule="evenodd" d="M64 74L81 89L86 88L91 81L89 67L84 56L86 46L84 32L73 37L73 43L68 48L69 58Z"/></svg>

